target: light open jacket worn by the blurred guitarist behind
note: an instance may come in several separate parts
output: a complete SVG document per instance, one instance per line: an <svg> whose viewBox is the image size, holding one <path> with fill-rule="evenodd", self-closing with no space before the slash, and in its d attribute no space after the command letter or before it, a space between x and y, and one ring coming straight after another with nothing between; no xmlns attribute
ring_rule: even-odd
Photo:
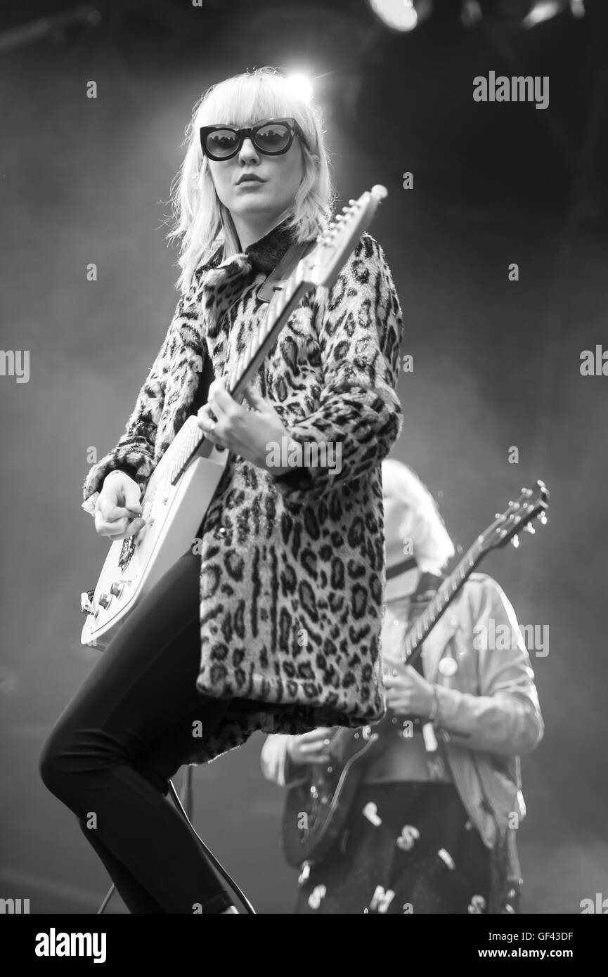
<svg viewBox="0 0 608 977"><path fill-rule="evenodd" d="M492 650L484 640L499 625L513 636L507 651ZM543 717L530 656L497 581L472 573L423 650L424 676L438 690L436 734L445 743L456 790L484 843L505 846L509 871L519 878L514 831L526 814L519 757L541 742ZM446 658L456 669L440 666ZM280 786L288 740L271 736L262 748L262 772Z"/></svg>

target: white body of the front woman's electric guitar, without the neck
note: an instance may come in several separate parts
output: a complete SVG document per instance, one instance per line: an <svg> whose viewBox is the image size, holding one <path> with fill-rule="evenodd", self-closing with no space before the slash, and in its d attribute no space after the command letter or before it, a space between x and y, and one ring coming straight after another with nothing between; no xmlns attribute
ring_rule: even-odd
<svg viewBox="0 0 608 977"><path fill-rule="evenodd" d="M142 499L146 525L111 543L81 644L106 648L163 573L192 547L228 460L228 451L203 441L173 485L176 464L188 456L199 435L195 416L188 417L152 472Z"/></svg>

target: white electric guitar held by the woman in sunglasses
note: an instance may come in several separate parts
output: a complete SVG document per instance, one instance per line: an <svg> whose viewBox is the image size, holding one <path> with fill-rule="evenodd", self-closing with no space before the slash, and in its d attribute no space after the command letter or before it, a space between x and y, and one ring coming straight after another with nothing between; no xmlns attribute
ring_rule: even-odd
<svg viewBox="0 0 608 977"><path fill-rule="evenodd" d="M350 200L275 292L257 335L227 378L227 390L239 403L302 296L335 281L386 195L376 186ZM228 451L205 439L195 415L188 417L152 472L142 499L146 525L111 543L95 590L80 595L87 616L81 644L106 648L157 580L192 546L227 460Z"/></svg>

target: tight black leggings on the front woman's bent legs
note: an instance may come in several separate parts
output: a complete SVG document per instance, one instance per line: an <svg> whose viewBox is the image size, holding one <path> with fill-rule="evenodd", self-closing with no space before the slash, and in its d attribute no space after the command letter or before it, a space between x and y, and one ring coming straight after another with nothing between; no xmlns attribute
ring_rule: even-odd
<svg viewBox="0 0 608 977"><path fill-rule="evenodd" d="M195 688L200 557L185 553L102 653L40 756L44 784L70 808L131 913L222 913L233 900L168 778L230 700Z"/></svg>

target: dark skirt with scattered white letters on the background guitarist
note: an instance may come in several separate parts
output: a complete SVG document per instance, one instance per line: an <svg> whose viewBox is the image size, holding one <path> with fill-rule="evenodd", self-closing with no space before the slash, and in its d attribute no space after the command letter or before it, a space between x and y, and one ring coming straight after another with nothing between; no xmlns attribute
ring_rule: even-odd
<svg viewBox="0 0 608 977"><path fill-rule="evenodd" d="M453 784L364 784L294 913L488 913L491 851Z"/></svg>

